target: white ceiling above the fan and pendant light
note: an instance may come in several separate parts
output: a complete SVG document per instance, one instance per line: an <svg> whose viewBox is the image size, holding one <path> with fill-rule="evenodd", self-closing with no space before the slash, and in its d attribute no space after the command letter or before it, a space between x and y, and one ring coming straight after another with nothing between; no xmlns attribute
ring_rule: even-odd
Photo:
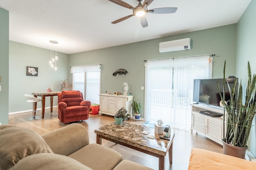
<svg viewBox="0 0 256 170"><path fill-rule="evenodd" d="M123 0L137 6L137 0ZM142 1L143 2L143 1ZM148 9L177 7L174 14L146 14L108 0L0 0L9 11L9 39L72 54L237 23L251 0L154 0ZM56 40L58 44L49 43Z"/></svg>

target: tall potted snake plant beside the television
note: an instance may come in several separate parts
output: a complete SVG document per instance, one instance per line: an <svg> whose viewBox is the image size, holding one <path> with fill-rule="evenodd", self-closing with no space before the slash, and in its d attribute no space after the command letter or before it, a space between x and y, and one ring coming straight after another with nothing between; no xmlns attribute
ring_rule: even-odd
<svg viewBox="0 0 256 170"><path fill-rule="evenodd" d="M226 61L224 63L223 94L217 82L217 88L221 97L220 105L224 108L223 128L223 153L244 159L248 149L247 141L252 127L252 121L256 113L256 75L251 75L250 63L248 62L248 83L245 90L245 100L243 98L242 83L234 83L233 88L228 84L225 86ZM237 78L236 80L237 81ZM238 87L237 87L238 86ZM230 99L225 100L225 88L228 88ZM225 120L225 117L227 120ZM234 149L236 149L234 151Z"/></svg>

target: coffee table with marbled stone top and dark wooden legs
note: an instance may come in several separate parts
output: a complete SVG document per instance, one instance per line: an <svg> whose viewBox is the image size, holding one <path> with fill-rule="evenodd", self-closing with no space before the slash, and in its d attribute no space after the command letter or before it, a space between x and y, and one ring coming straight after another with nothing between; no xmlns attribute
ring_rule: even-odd
<svg viewBox="0 0 256 170"><path fill-rule="evenodd" d="M149 131L148 135L155 135L155 139L150 139L143 131ZM154 133L154 128L144 127L133 123L122 122L116 125L115 122L102 126L94 131L97 134L96 143L101 144L102 139L112 141L140 152L159 158L159 170L164 170L165 156L169 153L169 162L172 164L172 142L175 134L172 133L170 141L160 139L162 135Z"/></svg>

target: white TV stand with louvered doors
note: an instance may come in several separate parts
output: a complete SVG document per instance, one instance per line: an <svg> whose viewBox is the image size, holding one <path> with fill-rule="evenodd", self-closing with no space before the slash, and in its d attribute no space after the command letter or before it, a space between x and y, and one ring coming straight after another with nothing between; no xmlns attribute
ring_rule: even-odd
<svg viewBox="0 0 256 170"><path fill-rule="evenodd" d="M223 114L223 109L210 107L202 104L191 104L191 132L197 131L207 138L222 145L223 138L223 119L220 117L210 117L199 113L199 111L208 110Z"/></svg>

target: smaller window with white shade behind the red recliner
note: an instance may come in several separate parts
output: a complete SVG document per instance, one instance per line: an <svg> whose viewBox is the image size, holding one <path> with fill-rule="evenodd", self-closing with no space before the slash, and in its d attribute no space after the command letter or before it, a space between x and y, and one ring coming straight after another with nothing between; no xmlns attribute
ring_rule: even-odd
<svg viewBox="0 0 256 170"><path fill-rule="evenodd" d="M101 65L72 66L73 87L84 94L84 100L99 104Z"/></svg>

